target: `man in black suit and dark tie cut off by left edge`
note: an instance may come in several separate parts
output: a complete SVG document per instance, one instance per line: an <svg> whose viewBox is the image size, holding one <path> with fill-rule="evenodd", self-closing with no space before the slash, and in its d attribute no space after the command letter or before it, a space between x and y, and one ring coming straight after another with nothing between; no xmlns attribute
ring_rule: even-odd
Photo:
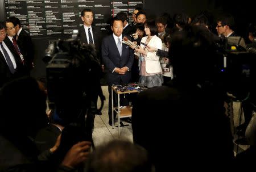
<svg viewBox="0 0 256 172"><path fill-rule="evenodd" d="M6 30L5 23L0 22L0 87L11 79L23 75L23 64L10 39L6 37Z"/></svg>

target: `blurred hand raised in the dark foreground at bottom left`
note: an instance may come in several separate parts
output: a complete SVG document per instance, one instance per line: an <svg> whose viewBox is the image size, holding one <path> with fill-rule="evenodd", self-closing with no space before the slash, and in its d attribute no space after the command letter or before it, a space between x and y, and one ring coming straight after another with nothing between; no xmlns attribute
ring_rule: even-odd
<svg viewBox="0 0 256 172"><path fill-rule="evenodd" d="M81 141L73 145L72 148L68 150L61 164L73 168L85 162L88 158L91 145L92 142L90 141Z"/></svg>

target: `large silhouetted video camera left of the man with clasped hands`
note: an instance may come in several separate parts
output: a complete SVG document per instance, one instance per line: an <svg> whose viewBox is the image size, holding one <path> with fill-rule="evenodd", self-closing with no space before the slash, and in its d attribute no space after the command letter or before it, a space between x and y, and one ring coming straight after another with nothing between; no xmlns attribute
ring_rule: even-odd
<svg viewBox="0 0 256 172"><path fill-rule="evenodd" d="M101 66L94 45L81 44L75 30L71 39L55 40L48 45L44 62L49 103L66 124L84 118L88 110L97 110L94 97L101 89L97 77Z"/></svg>

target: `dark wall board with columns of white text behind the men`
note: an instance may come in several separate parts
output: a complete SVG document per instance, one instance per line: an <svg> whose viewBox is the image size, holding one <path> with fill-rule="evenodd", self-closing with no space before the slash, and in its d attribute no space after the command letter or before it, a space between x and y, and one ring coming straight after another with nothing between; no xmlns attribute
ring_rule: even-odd
<svg viewBox="0 0 256 172"><path fill-rule="evenodd" d="M4 5L6 18L19 18L32 38L63 38L82 26L83 9L93 10L94 24L104 32L111 17L123 11L131 19L135 7L143 7L143 0L5 0Z"/></svg>

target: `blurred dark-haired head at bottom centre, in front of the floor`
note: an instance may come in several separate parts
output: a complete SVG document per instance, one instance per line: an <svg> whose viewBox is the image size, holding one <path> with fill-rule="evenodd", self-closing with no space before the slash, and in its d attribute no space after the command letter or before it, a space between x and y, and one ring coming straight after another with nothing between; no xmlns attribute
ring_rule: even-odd
<svg viewBox="0 0 256 172"><path fill-rule="evenodd" d="M90 155L86 169L87 172L151 172L154 168L142 146L113 140Z"/></svg>

